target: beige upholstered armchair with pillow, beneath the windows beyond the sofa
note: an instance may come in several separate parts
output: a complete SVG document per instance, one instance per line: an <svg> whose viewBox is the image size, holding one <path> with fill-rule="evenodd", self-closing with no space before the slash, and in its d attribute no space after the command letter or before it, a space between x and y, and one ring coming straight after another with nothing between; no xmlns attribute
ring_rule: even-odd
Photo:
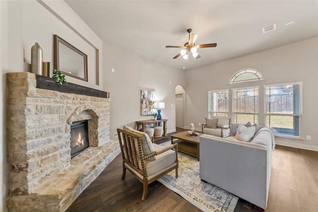
<svg viewBox="0 0 318 212"><path fill-rule="evenodd" d="M230 136L231 118L229 116L211 116L205 118L206 123L202 124L202 133L221 138Z"/></svg>

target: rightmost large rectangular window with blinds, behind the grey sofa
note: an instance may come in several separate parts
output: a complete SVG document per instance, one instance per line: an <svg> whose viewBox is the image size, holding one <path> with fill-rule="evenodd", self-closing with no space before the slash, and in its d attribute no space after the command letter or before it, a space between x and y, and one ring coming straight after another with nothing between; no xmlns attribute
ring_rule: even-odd
<svg viewBox="0 0 318 212"><path fill-rule="evenodd" d="M264 85L266 126L275 136L302 139L303 83Z"/></svg>

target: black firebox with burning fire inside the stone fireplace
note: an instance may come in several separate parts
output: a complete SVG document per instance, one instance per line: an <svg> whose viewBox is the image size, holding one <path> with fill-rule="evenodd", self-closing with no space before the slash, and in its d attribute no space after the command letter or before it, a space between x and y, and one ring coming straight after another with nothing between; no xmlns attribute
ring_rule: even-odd
<svg viewBox="0 0 318 212"><path fill-rule="evenodd" d="M88 120L73 122L71 125L71 158L88 146Z"/></svg>

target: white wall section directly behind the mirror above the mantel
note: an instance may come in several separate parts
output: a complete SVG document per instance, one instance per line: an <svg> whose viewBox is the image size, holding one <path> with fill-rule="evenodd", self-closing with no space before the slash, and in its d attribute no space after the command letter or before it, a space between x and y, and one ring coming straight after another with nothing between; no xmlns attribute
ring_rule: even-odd
<svg viewBox="0 0 318 212"><path fill-rule="evenodd" d="M87 55L88 82L70 76L66 76L67 81L101 90L102 85L96 85L95 48L100 50L99 68L102 69L102 41L84 21L62 0L23 1L22 6L24 62L31 64L31 47L38 42L43 61L53 64L53 35L56 34Z"/></svg>

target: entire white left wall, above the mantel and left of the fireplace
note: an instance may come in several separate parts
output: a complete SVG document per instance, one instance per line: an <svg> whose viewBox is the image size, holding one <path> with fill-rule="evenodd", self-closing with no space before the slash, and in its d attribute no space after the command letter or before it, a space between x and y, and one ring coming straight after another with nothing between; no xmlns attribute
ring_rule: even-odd
<svg viewBox="0 0 318 212"><path fill-rule="evenodd" d="M102 77L102 41L87 27L63 0L0 0L0 211L6 211L6 142L5 142L5 86L6 73L28 71L31 47L38 42L44 61L53 62L53 34L60 35L95 60L92 49L99 49L99 76ZM71 26L71 27L70 27ZM86 40L84 42L84 40ZM91 45L87 44L87 41ZM79 45L79 46L77 46ZM91 60L91 59L90 59ZM90 62L92 64L92 62ZM94 64L88 66L88 82L66 77L69 82L102 90L102 81L96 85Z"/></svg>

